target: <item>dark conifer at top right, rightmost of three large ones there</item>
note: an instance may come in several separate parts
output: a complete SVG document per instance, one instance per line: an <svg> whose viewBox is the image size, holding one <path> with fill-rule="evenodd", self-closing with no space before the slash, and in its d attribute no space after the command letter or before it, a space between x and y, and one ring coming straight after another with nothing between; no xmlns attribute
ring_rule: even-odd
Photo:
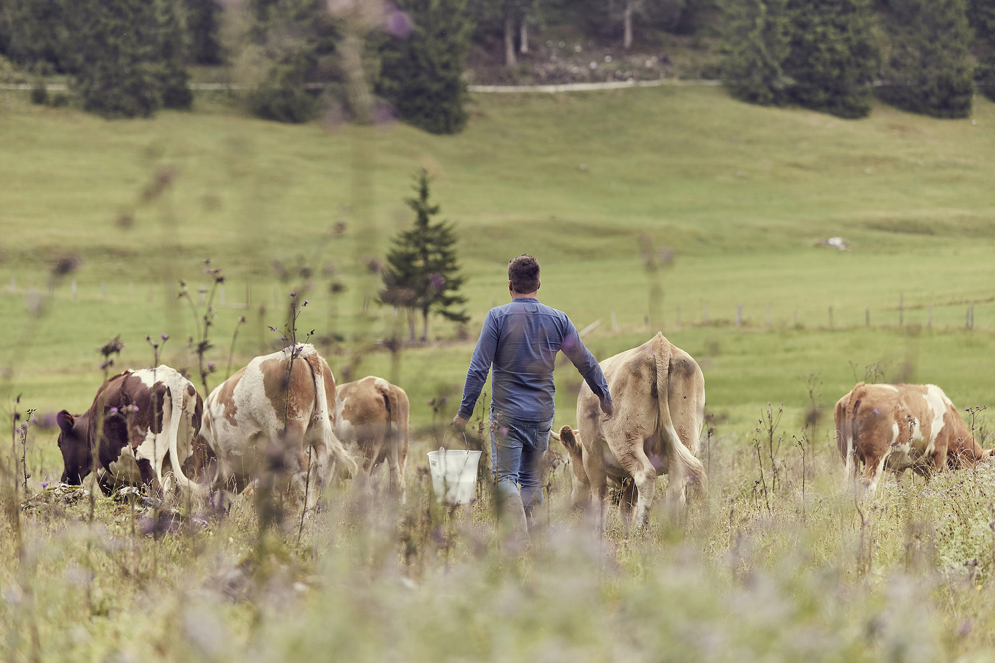
<svg viewBox="0 0 995 663"><path fill-rule="evenodd" d="M881 97L903 110L966 117L974 92L964 0L889 0Z"/></svg>

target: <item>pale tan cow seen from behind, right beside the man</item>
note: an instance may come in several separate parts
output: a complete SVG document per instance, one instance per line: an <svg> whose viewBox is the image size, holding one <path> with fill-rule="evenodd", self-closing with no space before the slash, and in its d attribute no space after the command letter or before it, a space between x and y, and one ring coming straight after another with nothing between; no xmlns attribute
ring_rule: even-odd
<svg viewBox="0 0 995 663"><path fill-rule="evenodd" d="M598 399L582 385L577 396L579 430L565 425L559 439L570 454L577 483L572 502L583 503L590 488L604 528L608 483L623 487L622 522L628 529L646 522L660 474L670 475L667 501L672 512L684 504L691 481L706 488L704 466L695 457L704 420L704 376L697 362L663 334L601 362L615 415L602 421Z"/></svg>

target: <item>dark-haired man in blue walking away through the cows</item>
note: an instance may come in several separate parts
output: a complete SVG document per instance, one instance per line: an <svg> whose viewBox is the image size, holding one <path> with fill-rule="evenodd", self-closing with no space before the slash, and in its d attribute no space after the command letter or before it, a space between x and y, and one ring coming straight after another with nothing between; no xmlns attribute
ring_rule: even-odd
<svg viewBox="0 0 995 663"><path fill-rule="evenodd" d="M601 401L604 420L614 408L605 376L562 311L539 303L539 262L528 254L507 264L511 302L492 308L477 341L460 412L453 425L463 430L494 364L491 453L497 497L512 527L527 537L532 509L542 504L539 468L553 422L553 368L563 351ZM518 492L518 485L521 492Z"/></svg>

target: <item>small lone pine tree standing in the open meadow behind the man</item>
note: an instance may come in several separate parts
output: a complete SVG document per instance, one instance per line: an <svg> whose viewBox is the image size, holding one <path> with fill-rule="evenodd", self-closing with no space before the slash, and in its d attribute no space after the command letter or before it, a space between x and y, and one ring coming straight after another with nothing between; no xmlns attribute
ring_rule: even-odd
<svg viewBox="0 0 995 663"><path fill-rule="evenodd" d="M415 225L393 239L394 248L387 254L382 277L384 288L380 301L422 315L422 340L428 340L429 314L438 313L447 320L467 322L470 318L450 309L467 298L459 294L464 277L456 257L457 237L453 225L445 221L432 223L439 206L429 203L429 175L423 168L415 178L416 196L405 199L415 213ZM414 322L409 317L411 338Z"/></svg>

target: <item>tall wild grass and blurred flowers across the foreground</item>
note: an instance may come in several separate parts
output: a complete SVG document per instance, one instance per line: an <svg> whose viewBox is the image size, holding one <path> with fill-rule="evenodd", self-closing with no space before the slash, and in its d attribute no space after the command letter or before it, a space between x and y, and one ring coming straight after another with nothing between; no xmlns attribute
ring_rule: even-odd
<svg viewBox="0 0 995 663"><path fill-rule="evenodd" d="M435 503L422 460L430 445L412 449L405 505L331 488L299 541L297 527L261 532L250 497L153 539L147 517L139 514L134 527L129 506L110 498L96 497L91 521L86 499L32 501L22 510L8 496L0 658L988 655L988 464L928 484L890 480L858 508L837 482L836 451L825 438L808 449L804 497L802 456L783 444L768 509L754 487L760 467L749 440L719 431L710 440L710 496L692 503L682 523L661 513L626 539L613 513L599 541L583 515L567 510L563 466L551 476L549 523L522 552L495 525L489 485L473 506Z"/></svg>

